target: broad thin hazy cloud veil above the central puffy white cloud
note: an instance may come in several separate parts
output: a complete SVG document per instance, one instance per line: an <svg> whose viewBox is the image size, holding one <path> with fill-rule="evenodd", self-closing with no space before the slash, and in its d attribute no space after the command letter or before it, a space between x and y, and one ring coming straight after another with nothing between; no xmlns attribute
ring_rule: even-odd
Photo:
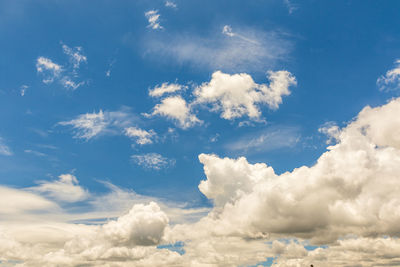
<svg viewBox="0 0 400 267"><path fill-rule="evenodd" d="M292 50L285 33L245 27L233 32L231 26L226 26L225 34L220 30L205 35L149 34L142 40L143 56L168 66L175 63L209 71L259 72L275 68Z"/></svg>

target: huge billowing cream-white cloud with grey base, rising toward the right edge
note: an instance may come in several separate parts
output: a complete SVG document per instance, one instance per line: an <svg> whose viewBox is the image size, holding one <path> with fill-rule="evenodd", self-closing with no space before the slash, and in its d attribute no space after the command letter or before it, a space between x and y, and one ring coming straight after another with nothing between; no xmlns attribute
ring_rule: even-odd
<svg viewBox="0 0 400 267"><path fill-rule="evenodd" d="M245 158L200 155L199 189L219 209L216 232L332 242L340 236L397 236L400 99L364 108L312 167L276 175ZM206 220L205 220L206 221Z"/></svg>

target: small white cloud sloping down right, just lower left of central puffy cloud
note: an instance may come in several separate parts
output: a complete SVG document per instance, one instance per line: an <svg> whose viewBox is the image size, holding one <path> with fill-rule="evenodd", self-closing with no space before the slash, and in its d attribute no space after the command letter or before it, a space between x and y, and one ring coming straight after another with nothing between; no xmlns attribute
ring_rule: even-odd
<svg viewBox="0 0 400 267"><path fill-rule="evenodd" d="M162 99L161 103L154 107L151 115L170 118L183 129L202 123L196 115L191 113L190 107L181 96L169 96Z"/></svg>

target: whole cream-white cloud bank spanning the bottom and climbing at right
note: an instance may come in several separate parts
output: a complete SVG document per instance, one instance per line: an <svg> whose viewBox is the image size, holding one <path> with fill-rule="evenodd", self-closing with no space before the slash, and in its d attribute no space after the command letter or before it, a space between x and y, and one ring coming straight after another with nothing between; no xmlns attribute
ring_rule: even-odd
<svg viewBox="0 0 400 267"><path fill-rule="evenodd" d="M243 157L201 154L206 178L199 189L214 207L194 223L170 224L151 202L103 225L54 223L48 235L40 227L2 227L0 260L17 266L237 266L274 257L276 266L399 265L398 114L400 98L364 108L335 131L336 144L314 166L281 175ZM56 208L39 200L35 209ZM41 238L24 234L32 228L42 229ZM184 251L169 249L176 242Z"/></svg>

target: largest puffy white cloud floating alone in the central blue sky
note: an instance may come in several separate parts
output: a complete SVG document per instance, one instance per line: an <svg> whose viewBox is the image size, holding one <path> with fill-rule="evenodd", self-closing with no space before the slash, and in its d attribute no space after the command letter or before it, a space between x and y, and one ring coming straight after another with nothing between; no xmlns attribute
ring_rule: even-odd
<svg viewBox="0 0 400 267"><path fill-rule="evenodd" d="M245 115L260 118L258 104L277 109L282 96L290 94L289 87L296 85L295 77L288 71L269 71L270 84L257 84L246 73L226 74L216 71L211 81L203 83L194 91L195 103L211 103L213 111L221 111L224 119L235 119Z"/></svg>

